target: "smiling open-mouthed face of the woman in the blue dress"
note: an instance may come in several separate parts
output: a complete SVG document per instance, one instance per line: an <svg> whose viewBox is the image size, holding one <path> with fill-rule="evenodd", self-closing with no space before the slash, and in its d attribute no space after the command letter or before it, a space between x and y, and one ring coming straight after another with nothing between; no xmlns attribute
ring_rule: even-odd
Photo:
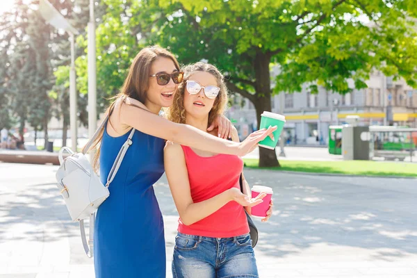
<svg viewBox="0 0 417 278"><path fill-rule="evenodd" d="M172 74L174 72L178 72L178 70L170 58L158 57L152 63L150 75L158 73ZM171 106L178 86L172 79L166 85L159 85L157 78L157 76L149 77L149 88L147 89L145 105L151 111L159 111L161 107Z"/></svg>

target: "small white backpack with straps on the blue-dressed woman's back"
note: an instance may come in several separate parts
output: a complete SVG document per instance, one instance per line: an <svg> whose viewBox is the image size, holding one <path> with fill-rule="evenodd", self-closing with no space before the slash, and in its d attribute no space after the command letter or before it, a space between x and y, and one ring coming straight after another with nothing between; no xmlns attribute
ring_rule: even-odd
<svg viewBox="0 0 417 278"><path fill-rule="evenodd" d="M83 247L85 254L89 258L93 256L92 245L94 242L94 221L95 212L99 208L100 204L107 199L110 195L108 186L115 178L117 170L119 170L120 164L126 154L127 149L132 145L133 133L135 129L131 130L126 142L122 145L119 154L113 163L113 167L107 177L106 186L101 183L99 177L94 172L92 165L88 161L85 153L90 149L92 142L99 135L99 131L107 123L108 116L101 123L94 136L85 145L82 153L74 153L68 147L60 149L58 158L60 167L56 172L56 181L61 195L63 195L65 204L67 205L68 212L70 213L72 221L79 221L81 230L81 239L83 240ZM63 157L63 152L69 152L70 156ZM90 238L85 238L84 219L90 218Z"/></svg>

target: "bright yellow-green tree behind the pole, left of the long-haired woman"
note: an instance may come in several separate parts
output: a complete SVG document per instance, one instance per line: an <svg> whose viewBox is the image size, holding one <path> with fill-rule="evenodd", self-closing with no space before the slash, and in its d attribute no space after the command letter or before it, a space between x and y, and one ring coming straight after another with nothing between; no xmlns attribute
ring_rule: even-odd
<svg viewBox="0 0 417 278"><path fill-rule="evenodd" d="M130 26L123 24L127 18L124 6L113 6L111 1L104 1L99 7L97 16L103 23L97 26L96 31L97 105L102 111L106 99L113 97L120 89L131 60L143 44L138 44L138 38L129 31ZM76 60L77 88L83 95L88 92L87 40L87 34L79 36L77 40L77 44L84 49L84 54Z"/></svg>

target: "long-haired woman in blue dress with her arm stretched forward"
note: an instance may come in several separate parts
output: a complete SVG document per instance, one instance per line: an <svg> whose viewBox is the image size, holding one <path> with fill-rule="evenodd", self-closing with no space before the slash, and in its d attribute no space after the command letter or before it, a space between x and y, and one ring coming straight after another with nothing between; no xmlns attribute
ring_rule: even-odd
<svg viewBox="0 0 417 278"><path fill-rule="evenodd" d="M93 147L95 168L106 183L113 162L136 129L110 196L99 206L95 222L95 275L97 278L165 277L163 218L153 184L164 172L165 140L208 152L243 156L274 129L252 133L241 143L215 138L187 124L177 124L158 115L172 105L183 73L174 56L160 47L142 49L134 58L119 95L106 113L108 123ZM217 119L220 126L222 116ZM224 125L224 124L223 124ZM211 126L212 127L212 126ZM229 136L229 129L219 132Z"/></svg>

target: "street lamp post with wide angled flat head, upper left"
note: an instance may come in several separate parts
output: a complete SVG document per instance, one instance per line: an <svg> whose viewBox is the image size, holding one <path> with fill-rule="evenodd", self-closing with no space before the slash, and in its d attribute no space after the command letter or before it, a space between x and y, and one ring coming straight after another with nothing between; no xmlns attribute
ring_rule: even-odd
<svg viewBox="0 0 417 278"><path fill-rule="evenodd" d="M55 28L65 30L68 35L70 35L71 42L71 66L70 66L70 130L71 130L71 141L72 149L76 152L76 128L77 128L77 119L76 119L76 83L75 83L75 44L74 44L74 35L78 35L79 32L76 31L70 22L61 15L54 6L51 5L47 0L40 0L39 11L45 21Z"/></svg>

